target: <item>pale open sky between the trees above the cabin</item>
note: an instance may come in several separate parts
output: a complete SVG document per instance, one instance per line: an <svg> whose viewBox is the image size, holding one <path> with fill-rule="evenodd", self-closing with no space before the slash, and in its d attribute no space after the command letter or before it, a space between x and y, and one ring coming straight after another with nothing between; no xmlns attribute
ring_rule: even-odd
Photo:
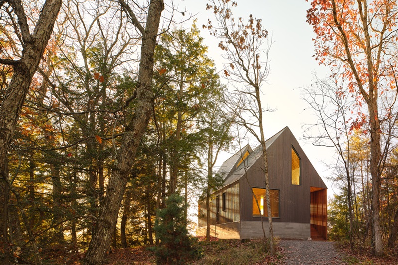
<svg viewBox="0 0 398 265"><path fill-rule="evenodd" d="M304 111L306 103L301 99L300 88L308 86L312 82L313 73L318 77L328 76L328 69L319 66L315 61L314 46L312 38L315 36L312 27L307 24L306 10L310 7L305 0L236 0L238 8L235 14L248 18L252 14L262 19L262 25L272 35L272 47L269 52L270 74L268 84L264 84L262 91L262 104L275 109L272 113L264 115L264 130L266 138L271 137L285 126L288 126L310 161L328 186L328 195L333 194L331 183L326 177L330 176L324 163L332 164L334 149L313 146L311 142L303 140L303 124L313 123L315 120L313 112ZM204 0L177 0L174 4L179 9L186 6L187 12L199 14L197 26L202 28L212 17L211 11L206 11ZM187 15L186 15L187 16ZM192 22L187 22L190 26ZM221 49L217 47L217 41L210 36L205 29L201 29L204 43L209 47L209 57L212 58L217 70L223 66L223 58L220 56ZM257 145L251 143L251 145ZM235 151L236 152L236 151ZM217 161L221 165L228 154ZM337 190L336 190L337 192Z"/></svg>

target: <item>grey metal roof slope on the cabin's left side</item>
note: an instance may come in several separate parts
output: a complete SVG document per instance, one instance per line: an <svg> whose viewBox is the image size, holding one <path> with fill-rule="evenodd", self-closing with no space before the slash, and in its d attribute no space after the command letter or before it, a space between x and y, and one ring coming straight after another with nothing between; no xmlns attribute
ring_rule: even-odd
<svg viewBox="0 0 398 265"><path fill-rule="evenodd" d="M283 131L284 131L285 129L287 129L287 128L288 128L288 127L283 128L283 129L280 130L278 133L276 133L275 135L273 135L272 137L270 137L268 140L266 140L266 141L265 141L266 149L268 149L268 148L274 143L275 139L277 139L277 138L283 133ZM242 159L242 156L246 153L246 151L243 152L242 150L244 150L244 149L247 148L247 147L250 148L249 145L246 145L244 148L242 148L241 150L239 150L239 152L237 152L237 153L236 153L235 155L233 155L231 158L229 158L228 160L226 160L226 161L222 164L220 170L221 170L221 169L224 170L224 168L223 168L224 164L225 164L226 162L228 162L228 161L229 161L230 159L232 159L232 158L234 158L234 161L239 162L239 161ZM251 148L250 148L250 150L251 150ZM224 187L227 186L227 185L229 185L229 184L232 184L233 182L235 182L235 181L237 181L237 180L239 180L239 179L245 174L245 171L246 171L248 168L250 168L250 167L261 157L261 155L262 155L262 148L261 148L261 145L257 146L252 152L249 152L249 153L250 153L250 155L247 156L247 157L244 159L243 163L241 163L240 165L238 165L238 167L236 167L237 163L235 163L235 164L234 164L234 167L229 167L229 168L228 168L228 169L230 169L230 170L229 170L228 174L226 174L226 176L224 177L224 185L223 185ZM230 164L232 164L231 161L228 162L227 165L230 165ZM225 169L227 169L227 167L225 167ZM220 170L218 171L218 173L220 172ZM222 173L221 173L221 174L222 174ZM224 174L225 174L225 173L224 173Z"/></svg>

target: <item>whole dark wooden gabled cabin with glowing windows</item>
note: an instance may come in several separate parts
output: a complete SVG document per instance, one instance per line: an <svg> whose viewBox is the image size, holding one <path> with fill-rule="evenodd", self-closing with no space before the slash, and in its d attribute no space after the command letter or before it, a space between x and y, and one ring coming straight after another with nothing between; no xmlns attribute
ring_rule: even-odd
<svg viewBox="0 0 398 265"><path fill-rule="evenodd" d="M268 139L266 148L274 236L327 239L327 187L290 129ZM261 216L267 216L267 206L261 150L247 145L220 167L224 184L211 196L211 236L263 237ZM206 235L205 202L198 202L198 236ZM268 218L263 225L268 233Z"/></svg>

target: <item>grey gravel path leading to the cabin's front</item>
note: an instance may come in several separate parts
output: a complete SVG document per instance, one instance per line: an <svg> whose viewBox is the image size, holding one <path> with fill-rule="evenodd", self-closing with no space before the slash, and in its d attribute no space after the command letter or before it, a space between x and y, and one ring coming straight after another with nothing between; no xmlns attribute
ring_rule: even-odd
<svg viewBox="0 0 398 265"><path fill-rule="evenodd" d="M286 251L286 265L344 264L330 241L281 240L279 245Z"/></svg>

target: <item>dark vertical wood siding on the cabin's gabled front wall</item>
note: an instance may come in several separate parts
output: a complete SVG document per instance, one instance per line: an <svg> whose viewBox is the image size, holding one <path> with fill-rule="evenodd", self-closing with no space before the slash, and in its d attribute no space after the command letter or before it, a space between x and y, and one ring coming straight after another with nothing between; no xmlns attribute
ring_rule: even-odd
<svg viewBox="0 0 398 265"><path fill-rule="evenodd" d="M292 146L301 158L301 185L292 185ZM268 150L268 171L271 189L280 190L280 218L274 222L310 223L310 187L327 188L301 149L289 128L274 140ZM256 221L252 216L251 187L264 188L264 167L259 159L240 179L241 220Z"/></svg>

